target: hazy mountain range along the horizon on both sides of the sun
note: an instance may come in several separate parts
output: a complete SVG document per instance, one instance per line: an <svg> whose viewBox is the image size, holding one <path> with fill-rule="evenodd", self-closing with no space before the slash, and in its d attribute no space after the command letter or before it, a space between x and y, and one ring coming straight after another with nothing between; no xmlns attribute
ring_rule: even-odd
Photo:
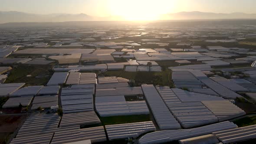
<svg viewBox="0 0 256 144"><path fill-rule="evenodd" d="M256 19L256 14L247 13L204 13L199 11L162 14L160 20L214 20L214 19ZM17 11L0 11L0 23L24 22L68 22L68 21L113 21L125 20L122 16L89 16L85 13L33 14Z"/></svg>

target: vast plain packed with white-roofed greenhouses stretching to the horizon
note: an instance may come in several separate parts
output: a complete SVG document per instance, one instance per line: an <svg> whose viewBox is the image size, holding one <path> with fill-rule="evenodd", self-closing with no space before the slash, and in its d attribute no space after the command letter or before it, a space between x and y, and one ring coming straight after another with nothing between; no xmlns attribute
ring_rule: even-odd
<svg viewBox="0 0 256 144"><path fill-rule="evenodd" d="M174 144L256 124L256 29L209 22L0 29L2 143Z"/></svg>

